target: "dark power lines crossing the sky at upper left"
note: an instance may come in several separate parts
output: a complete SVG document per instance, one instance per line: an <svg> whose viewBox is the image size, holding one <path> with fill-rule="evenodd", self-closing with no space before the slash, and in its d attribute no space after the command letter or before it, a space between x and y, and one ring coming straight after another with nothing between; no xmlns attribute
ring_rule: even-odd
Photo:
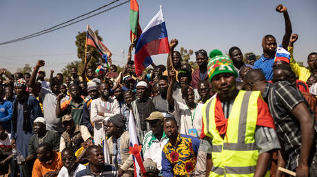
<svg viewBox="0 0 317 177"><path fill-rule="evenodd" d="M119 0L116 0L116 1L119 1ZM112 1L111 3L108 3L108 4L106 4L106 5L103 5L102 7L97 8L96 10L100 10L101 8L105 8L105 7L107 7L108 5L111 5L112 3L115 3L116 1ZM96 13L96 14L92 14L92 15L90 15L90 16L87 16L87 17L85 17L85 18L83 18L83 19L81 19L81 20L74 21L74 20L76 20L76 19L79 19L79 18L82 17L82 16L85 16L85 15L87 15L87 14L91 14L92 12L96 12L96 10L92 10L91 12L88 12L88 13L83 14L83 15L81 15L81 16L77 16L77 17L74 18L74 19L70 19L69 21L66 21L66 22L64 22L64 23L60 23L59 25L55 25L54 27L50 27L50 28L48 28L48 29L43 29L43 30L41 30L40 32L36 32L36 33L30 34L30 35L28 35L28 36L23 36L22 38L17 38L17 39L14 39L14 40L8 40L8 41L6 41L6 42L0 43L0 45L6 45L6 44L10 44L10 43L15 43L15 42L18 42L18 41L21 41L21 40L26 40L26 39L29 39L29 38L34 38L34 37L37 37L37 36L41 36L41 35L46 34L46 33L49 33L49 32L54 32L54 31L56 31L57 29L61 29L61 28L63 28L63 27L68 27L68 26L73 25L73 24L75 24L75 23L79 23L79 22L84 21L84 20L86 20L86 19L90 19L90 18L93 17L93 16L102 14L102 13L104 13L104 12L107 12L107 11L109 11L109 10L112 10L112 9L114 9L114 8L117 8L117 7L119 7L119 6L121 6L121 5L125 4L125 3L128 3L128 2L130 2L130 0L124 1L123 3L119 3L118 5L115 5L115 6L113 6L112 8L108 8L108 9L103 10L103 11L101 11L101 12L98 12L98 13ZM70 21L74 21L74 22L69 23ZM68 25L64 25L65 23L69 23L69 24L68 24ZM59 27L60 25L63 25L63 26ZM57 28L56 28L56 27L57 27Z"/></svg>

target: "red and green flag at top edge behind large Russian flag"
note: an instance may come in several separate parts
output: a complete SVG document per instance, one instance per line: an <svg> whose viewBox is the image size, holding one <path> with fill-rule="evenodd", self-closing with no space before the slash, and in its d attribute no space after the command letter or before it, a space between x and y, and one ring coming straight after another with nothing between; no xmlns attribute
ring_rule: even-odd
<svg viewBox="0 0 317 177"><path fill-rule="evenodd" d="M131 43L138 43L138 39L142 34L142 29L139 24L139 4L136 0L130 1L130 39Z"/></svg>

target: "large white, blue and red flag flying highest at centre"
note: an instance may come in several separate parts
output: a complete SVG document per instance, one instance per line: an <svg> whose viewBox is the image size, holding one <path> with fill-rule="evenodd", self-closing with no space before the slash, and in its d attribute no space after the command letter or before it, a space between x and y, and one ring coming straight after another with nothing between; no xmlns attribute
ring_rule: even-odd
<svg viewBox="0 0 317 177"><path fill-rule="evenodd" d="M167 38L163 10L154 16L143 30L134 54L134 64L136 75L141 75L142 71L152 64L152 55L170 53L170 45Z"/></svg>

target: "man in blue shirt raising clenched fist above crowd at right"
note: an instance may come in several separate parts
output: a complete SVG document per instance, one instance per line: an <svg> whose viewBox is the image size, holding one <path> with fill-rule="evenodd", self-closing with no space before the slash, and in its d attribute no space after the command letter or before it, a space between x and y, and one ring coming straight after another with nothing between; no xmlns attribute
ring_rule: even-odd
<svg viewBox="0 0 317 177"><path fill-rule="evenodd" d="M285 34L283 37L282 47L287 49L289 45L289 38L292 35L292 24L287 13L287 8L283 5L276 6L276 11L283 13L285 20ZM262 40L263 54L260 59L254 62L254 69L261 69L267 80L272 80L273 71L272 66L274 63L274 56L276 54L276 39L271 34L267 34Z"/></svg>

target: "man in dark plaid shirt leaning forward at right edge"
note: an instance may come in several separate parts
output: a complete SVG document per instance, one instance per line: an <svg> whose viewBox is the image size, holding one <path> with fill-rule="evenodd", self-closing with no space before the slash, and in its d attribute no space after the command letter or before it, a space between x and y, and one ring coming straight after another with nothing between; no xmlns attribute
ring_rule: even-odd
<svg viewBox="0 0 317 177"><path fill-rule="evenodd" d="M271 84L256 69L245 75L247 89L260 91L274 117L283 149L278 166L296 171L296 176L316 176L316 123L314 113L298 89L289 82ZM315 134L315 138L311 137ZM282 172L276 170L276 176Z"/></svg>

